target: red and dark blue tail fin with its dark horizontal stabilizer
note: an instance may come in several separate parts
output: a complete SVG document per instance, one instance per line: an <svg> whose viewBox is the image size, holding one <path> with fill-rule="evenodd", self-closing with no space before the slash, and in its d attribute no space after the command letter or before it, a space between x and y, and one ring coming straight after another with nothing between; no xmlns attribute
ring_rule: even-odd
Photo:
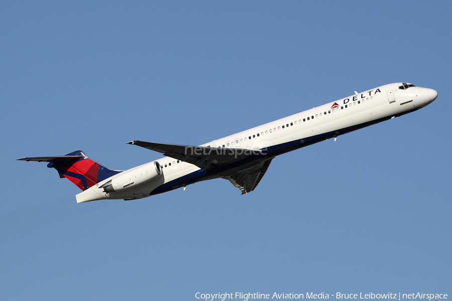
<svg viewBox="0 0 452 301"><path fill-rule="evenodd" d="M47 164L48 168L56 169L60 178L67 178L83 191L96 183L122 172L107 169L92 161L81 150L76 150L66 156L33 157L18 160L49 162Z"/></svg>

